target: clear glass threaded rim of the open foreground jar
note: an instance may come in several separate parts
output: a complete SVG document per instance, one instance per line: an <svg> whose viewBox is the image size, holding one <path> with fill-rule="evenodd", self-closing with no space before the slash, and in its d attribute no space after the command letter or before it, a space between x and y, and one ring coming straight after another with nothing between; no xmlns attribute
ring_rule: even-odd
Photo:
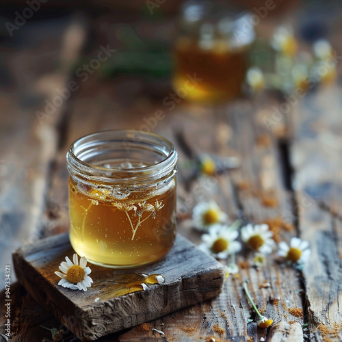
<svg viewBox="0 0 342 342"><path fill-rule="evenodd" d="M146 140L147 144L156 144L155 150L162 153L163 159L150 166L141 168L105 168L88 163L81 159L80 154L86 154L86 148L93 145L101 146L101 142L122 142L129 141L131 144L142 144ZM83 147L83 149L82 149ZM94 147L90 149L94 152ZM164 157L165 156L165 157ZM75 140L68 148L66 154L67 168L72 176L78 176L84 181L97 181L99 183L115 183L125 185L135 185L140 187L142 183L155 183L162 179L168 179L176 172L176 161L178 155L172 142L161 135L146 131L133 129L107 129L97 131L88 135L83 135ZM86 182L87 183L87 182Z"/></svg>

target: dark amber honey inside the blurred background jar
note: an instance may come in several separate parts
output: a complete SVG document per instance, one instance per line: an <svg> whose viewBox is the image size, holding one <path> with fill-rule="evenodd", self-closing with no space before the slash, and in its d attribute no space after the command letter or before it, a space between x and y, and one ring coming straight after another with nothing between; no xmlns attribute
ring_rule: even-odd
<svg viewBox="0 0 342 342"><path fill-rule="evenodd" d="M223 41L202 49L196 40L179 39L174 48L174 90L185 88L187 100L215 103L235 98L246 76L246 49L230 51ZM200 81L187 87L189 75Z"/></svg>

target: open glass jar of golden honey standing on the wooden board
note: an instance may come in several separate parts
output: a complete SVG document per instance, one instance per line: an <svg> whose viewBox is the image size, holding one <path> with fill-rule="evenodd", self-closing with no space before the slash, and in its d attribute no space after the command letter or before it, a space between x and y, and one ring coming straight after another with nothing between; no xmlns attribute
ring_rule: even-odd
<svg viewBox="0 0 342 342"><path fill-rule="evenodd" d="M66 155L70 243L90 263L135 267L164 257L176 237L171 142L143 131L81 137Z"/></svg>

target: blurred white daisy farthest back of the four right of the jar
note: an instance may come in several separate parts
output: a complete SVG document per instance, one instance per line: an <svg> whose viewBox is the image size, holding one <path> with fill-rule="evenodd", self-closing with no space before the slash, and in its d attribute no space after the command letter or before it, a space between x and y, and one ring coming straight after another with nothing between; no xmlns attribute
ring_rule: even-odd
<svg viewBox="0 0 342 342"><path fill-rule="evenodd" d="M210 227L224 223L227 218L226 213L213 201L200 202L192 211L194 226L199 231L208 231Z"/></svg>

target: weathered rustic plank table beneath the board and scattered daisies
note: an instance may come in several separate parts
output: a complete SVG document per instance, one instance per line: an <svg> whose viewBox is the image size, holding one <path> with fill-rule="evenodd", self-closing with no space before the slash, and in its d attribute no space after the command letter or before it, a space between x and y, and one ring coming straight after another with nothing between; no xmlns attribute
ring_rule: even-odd
<svg viewBox="0 0 342 342"><path fill-rule="evenodd" d="M32 27L26 30L34 35ZM0 92L1 274L15 247L68 230L65 155L70 143L92 131L147 124L179 152L181 234L200 242L189 225L192 207L198 200L214 199L231 220L267 222L277 242L293 236L308 240L312 255L300 272L279 263L274 254L257 269L248 254L240 253L239 274L229 276L218 298L101 341L341 341L341 87L307 94L285 115L274 109L285 99L271 94L215 108L179 101L170 111L163 97L152 101L144 94L142 82L103 81L96 73L84 81L75 76L73 65L88 36L79 18L45 30L24 52L14 49L8 55L2 48L3 65L11 70L7 81L18 92ZM339 37L332 40L339 46ZM96 44L92 53L105 42ZM69 81L77 82L77 90L49 115L37 115ZM166 114L163 120L155 118L159 109ZM196 178L182 165L202 153L236 156L241 164ZM246 279L257 306L274 320L271 331L249 321L255 313L241 287ZM14 280L12 272L13 341L50 341L51 332L40 326L60 328L60 323ZM77 341L66 336L64 341Z"/></svg>

